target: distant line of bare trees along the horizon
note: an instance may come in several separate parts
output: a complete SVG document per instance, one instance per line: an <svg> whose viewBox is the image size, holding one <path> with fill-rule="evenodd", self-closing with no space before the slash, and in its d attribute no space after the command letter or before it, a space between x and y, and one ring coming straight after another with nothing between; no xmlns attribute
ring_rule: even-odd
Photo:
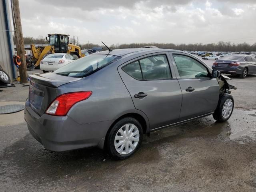
<svg viewBox="0 0 256 192"><path fill-rule="evenodd" d="M38 38L33 37L24 37L24 44L48 44L43 36L38 36ZM71 40L71 39L70 39ZM15 43L14 37L14 43ZM153 45L158 48L163 49L176 49L176 50L187 50L187 51L231 51L231 52L240 52L240 51L256 51L256 42L254 44L244 43L231 43L220 41L218 43L209 43L209 44L173 44L173 43L130 43L130 44L112 44L109 46L111 49L125 49L125 48L140 48L147 45ZM80 44L82 49L88 49L93 47L102 47L103 50L107 50L105 46L101 44Z"/></svg>

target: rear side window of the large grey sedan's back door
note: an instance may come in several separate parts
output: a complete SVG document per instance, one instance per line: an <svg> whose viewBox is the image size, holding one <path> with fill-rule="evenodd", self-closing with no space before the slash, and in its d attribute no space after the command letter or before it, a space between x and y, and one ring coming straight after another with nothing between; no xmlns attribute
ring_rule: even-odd
<svg viewBox="0 0 256 192"><path fill-rule="evenodd" d="M166 55L147 57L130 63L122 70L138 80L162 80L172 78Z"/></svg>

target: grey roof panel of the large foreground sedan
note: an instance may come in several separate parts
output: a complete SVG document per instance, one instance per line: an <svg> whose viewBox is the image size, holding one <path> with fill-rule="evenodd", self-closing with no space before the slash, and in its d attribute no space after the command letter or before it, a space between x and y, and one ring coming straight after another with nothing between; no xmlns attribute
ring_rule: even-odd
<svg viewBox="0 0 256 192"><path fill-rule="evenodd" d="M94 54L110 54L114 56L120 56L120 57L125 57L125 56L131 56L134 54L138 53L143 53L143 54L150 54L153 52L182 52L182 53L187 53L184 51L180 50L173 50L173 49L160 49L160 48L130 48L130 49L114 49L112 51L101 51L97 52Z"/></svg>

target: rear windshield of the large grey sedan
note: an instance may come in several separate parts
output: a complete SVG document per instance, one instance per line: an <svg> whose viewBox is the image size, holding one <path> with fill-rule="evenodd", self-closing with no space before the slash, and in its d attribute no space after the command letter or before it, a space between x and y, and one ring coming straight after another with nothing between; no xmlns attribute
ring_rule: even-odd
<svg viewBox="0 0 256 192"><path fill-rule="evenodd" d="M53 73L69 77L86 77L119 59L119 56L113 55L88 55L57 69Z"/></svg>

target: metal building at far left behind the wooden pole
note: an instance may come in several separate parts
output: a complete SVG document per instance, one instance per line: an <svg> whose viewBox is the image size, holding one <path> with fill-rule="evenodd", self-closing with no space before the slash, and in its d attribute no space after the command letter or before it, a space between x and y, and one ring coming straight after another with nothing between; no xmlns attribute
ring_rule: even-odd
<svg viewBox="0 0 256 192"><path fill-rule="evenodd" d="M10 0L0 0L0 68L4 70L13 81L16 79L16 69L12 56L14 43L11 28Z"/></svg>

